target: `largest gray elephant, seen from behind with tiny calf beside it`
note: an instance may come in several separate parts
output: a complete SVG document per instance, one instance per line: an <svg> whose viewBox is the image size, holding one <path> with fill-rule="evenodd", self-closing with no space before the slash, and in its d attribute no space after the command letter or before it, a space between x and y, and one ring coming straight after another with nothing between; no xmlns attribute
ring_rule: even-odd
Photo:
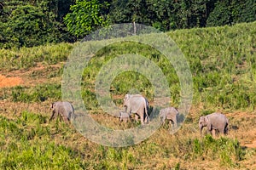
<svg viewBox="0 0 256 170"><path fill-rule="evenodd" d="M124 99L125 112L131 116L131 113L135 113L135 119L137 121L138 116L141 119L141 124L149 122L148 99L144 98L141 94L125 94Z"/></svg>

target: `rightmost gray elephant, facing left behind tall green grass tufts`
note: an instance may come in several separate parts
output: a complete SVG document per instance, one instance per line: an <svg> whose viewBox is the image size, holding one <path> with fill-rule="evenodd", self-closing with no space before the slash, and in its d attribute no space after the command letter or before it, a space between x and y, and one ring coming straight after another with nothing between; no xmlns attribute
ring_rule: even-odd
<svg viewBox="0 0 256 170"><path fill-rule="evenodd" d="M211 133L215 138L215 133L218 131L223 134L228 133L229 120L222 113L212 113L207 116L201 116L199 119L199 129L202 134L203 127L207 127L207 132Z"/></svg>

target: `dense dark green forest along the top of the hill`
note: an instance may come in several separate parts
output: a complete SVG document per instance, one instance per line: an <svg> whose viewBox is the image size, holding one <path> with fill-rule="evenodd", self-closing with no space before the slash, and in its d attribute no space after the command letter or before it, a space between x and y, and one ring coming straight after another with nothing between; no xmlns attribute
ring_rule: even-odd
<svg viewBox="0 0 256 170"><path fill-rule="evenodd" d="M4 0L0 48L70 42L116 23L135 22L170 31L254 20L255 0Z"/></svg>

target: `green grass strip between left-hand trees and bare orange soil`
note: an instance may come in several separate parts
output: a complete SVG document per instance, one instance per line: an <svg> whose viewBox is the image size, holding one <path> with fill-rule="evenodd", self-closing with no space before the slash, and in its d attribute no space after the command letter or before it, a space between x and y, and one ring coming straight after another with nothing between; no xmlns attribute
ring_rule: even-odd
<svg viewBox="0 0 256 170"><path fill-rule="evenodd" d="M38 46L34 48L0 49L0 71L28 69L38 62L46 65L66 61L73 44Z"/></svg>

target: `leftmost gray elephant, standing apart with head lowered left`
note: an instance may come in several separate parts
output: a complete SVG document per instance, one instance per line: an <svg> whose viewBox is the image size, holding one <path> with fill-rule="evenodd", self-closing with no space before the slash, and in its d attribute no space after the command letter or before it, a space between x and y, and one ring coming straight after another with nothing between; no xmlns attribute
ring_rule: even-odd
<svg viewBox="0 0 256 170"><path fill-rule="evenodd" d="M67 101L52 103L50 110L52 110L52 115L49 118L49 122L57 116L61 117L64 122L68 122L74 117L73 105Z"/></svg>

